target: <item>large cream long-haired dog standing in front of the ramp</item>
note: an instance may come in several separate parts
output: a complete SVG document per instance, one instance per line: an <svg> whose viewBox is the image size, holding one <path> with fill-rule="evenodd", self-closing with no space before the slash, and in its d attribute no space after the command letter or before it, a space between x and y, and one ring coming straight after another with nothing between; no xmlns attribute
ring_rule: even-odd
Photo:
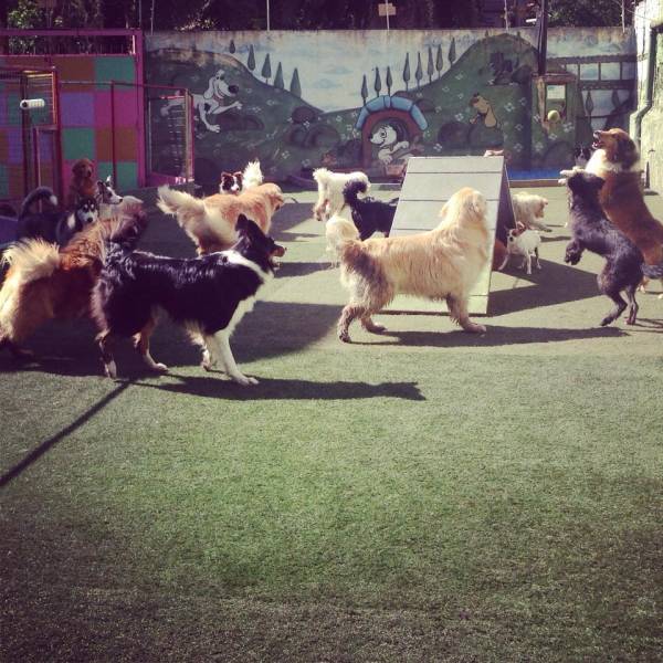
<svg viewBox="0 0 663 663"><path fill-rule="evenodd" d="M348 327L357 318L367 332L385 330L371 316L398 294L445 299L451 317L465 332L486 329L470 319L467 299L488 262L486 200L465 187L440 212L429 232L359 241L355 225L341 217L327 222L327 242L340 261L340 280L350 301L338 320L338 338L350 341Z"/></svg>

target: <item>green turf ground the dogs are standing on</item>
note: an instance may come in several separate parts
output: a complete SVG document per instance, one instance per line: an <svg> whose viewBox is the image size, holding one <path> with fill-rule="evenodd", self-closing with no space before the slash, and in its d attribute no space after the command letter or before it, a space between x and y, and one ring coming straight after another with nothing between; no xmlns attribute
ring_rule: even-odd
<svg viewBox="0 0 663 663"><path fill-rule="evenodd" d="M663 302L598 326L601 261L494 276L482 337L354 329L301 193L232 341L168 324L101 377L88 323L0 357L3 661L663 661ZM657 197L648 202L663 217ZM192 254L171 220L143 242ZM659 403L659 404L656 404Z"/></svg>

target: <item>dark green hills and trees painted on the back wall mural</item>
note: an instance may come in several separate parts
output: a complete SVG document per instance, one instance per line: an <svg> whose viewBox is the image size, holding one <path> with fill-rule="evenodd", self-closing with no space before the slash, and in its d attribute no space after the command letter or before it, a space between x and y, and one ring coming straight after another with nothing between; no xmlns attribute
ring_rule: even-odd
<svg viewBox="0 0 663 663"><path fill-rule="evenodd" d="M446 71L441 69L432 76L421 70L410 74L407 82L401 80L400 72L397 76L399 66L406 62L406 53L400 64L390 67L394 78L392 96L410 99L425 118L423 130L406 136L406 140L415 146L417 151L411 154L481 155L492 148L508 150L515 167L565 162L572 148L573 123L562 123L546 133L538 126L537 118L533 119L536 99L532 75L536 72L536 49L518 34L504 33L482 39L457 60L454 51L455 45L442 59ZM275 70L278 54L270 55L271 69ZM410 71L415 70L419 55L427 62L428 50L422 48L414 57L410 53ZM206 127L200 112L194 110L198 181L215 183L221 170L241 169L254 158L260 159L265 176L277 181L320 165L337 169L362 167L372 177L388 173L388 162L380 160L380 146L370 140L368 129L357 126L364 105L325 113L285 88L287 84L283 83L280 64L278 86L264 76L261 80L259 74L264 70L255 66L254 59L251 65L253 71L234 55L197 50L164 49L147 56L150 82L183 86L202 95L210 78L223 70L225 83L236 86L236 94L223 103L231 105L236 101L241 107L208 114L208 122L218 126L218 131ZM365 74L368 78L368 72L357 72L358 101L362 99ZM296 91L299 92L298 81ZM302 95L306 96L305 86ZM370 105L371 97L366 102ZM168 114L158 115L152 114L152 133L155 144L164 146L162 171L167 173L172 118ZM381 113L375 119L371 131L379 127L378 119L389 124L389 113ZM365 154L366 150L371 154Z"/></svg>

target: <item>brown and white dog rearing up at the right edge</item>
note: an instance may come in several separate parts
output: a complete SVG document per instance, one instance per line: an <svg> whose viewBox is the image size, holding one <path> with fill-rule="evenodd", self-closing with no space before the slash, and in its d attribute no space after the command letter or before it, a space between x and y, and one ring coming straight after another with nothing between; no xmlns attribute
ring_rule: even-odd
<svg viewBox="0 0 663 663"><path fill-rule="evenodd" d="M608 219L642 252L646 265L663 262L663 224L649 211L635 143L622 129L594 131L596 149L587 171L606 180L599 202Z"/></svg>

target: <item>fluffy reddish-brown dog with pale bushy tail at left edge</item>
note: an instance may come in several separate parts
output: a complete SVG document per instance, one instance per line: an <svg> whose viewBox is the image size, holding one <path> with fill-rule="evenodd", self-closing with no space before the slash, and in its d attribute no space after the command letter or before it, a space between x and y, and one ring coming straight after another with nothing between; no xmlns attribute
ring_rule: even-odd
<svg viewBox="0 0 663 663"><path fill-rule="evenodd" d="M125 197L119 214L87 225L63 249L41 239L18 242L3 254L9 264L0 290L0 348L28 355L23 341L46 320L90 315L91 294L104 265L107 238L127 217L147 225L143 202Z"/></svg>

